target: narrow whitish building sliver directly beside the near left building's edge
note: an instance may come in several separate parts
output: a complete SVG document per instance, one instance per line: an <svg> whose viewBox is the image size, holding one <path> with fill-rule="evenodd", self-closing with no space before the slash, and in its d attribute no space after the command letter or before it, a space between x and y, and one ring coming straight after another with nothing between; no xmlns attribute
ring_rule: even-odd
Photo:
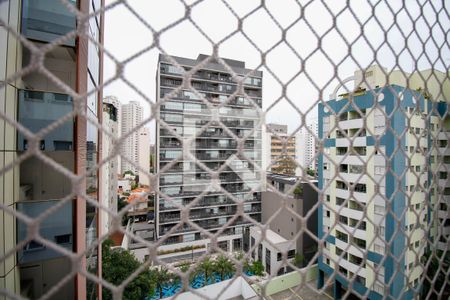
<svg viewBox="0 0 450 300"><path fill-rule="evenodd" d="M102 133L102 157L111 158L102 166L102 177L100 186L103 187L102 204L117 212L117 179L119 174L119 156L112 156L115 149L115 140L119 138L119 107L120 102L114 96L108 96L103 99L102 124L109 130L109 135ZM106 211L100 211L101 233L109 231L113 222L113 217Z"/></svg>

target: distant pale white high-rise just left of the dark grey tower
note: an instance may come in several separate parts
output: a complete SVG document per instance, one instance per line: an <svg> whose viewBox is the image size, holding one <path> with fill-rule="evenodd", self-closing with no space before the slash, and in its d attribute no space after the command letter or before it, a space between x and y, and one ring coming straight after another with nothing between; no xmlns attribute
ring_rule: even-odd
<svg viewBox="0 0 450 300"><path fill-rule="evenodd" d="M142 123L144 117L143 107L137 101L130 101L122 105L121 111L122 136L128 135L132 131L121 145L121 173L131 171L137 174L136 166L139 165L139 130L136 130L136 128Z"/></svg>

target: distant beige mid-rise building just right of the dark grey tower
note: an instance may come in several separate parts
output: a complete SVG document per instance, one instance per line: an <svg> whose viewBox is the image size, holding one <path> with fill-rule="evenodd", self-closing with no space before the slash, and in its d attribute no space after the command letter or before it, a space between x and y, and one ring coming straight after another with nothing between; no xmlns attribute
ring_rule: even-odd
<svg viewBox="0 0 450 300"><path fill-rule="evenodd" d="M296 137L289 137L287 125L267 124L263 137L266 152L266 166L276 174L294 175L296 173Z"/></svg>

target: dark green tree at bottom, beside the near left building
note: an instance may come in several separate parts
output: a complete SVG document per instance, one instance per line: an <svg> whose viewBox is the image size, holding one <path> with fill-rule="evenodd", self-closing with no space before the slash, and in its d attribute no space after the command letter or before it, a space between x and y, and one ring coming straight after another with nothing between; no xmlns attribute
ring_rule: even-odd
<svg viewBox="0 0 450 300"><path fill-rule="evenodd" d="M102 277L109 283L120 285L141 263L127 250L111 249L112 244L111 240L102 244ZM142 300L152 296L154 286L150 270L145 270L127 285L122 299ZM103 299L112 299L111 291L107 288L103 288L102 296Z"/></svg>

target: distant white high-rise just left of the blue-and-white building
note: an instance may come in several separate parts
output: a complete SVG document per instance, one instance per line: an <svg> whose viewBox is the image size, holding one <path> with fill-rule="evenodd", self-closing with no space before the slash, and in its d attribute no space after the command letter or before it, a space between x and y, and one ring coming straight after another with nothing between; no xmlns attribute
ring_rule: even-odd
<svg viewBox="0 0 450 300"><path fill-rule="evenodd" d="M295 139L297 162L305 171L307 169L316 169L317 159L314 158L314 155L316 153L317 120L312 121L307 127L308 130L302 128L299 133L297 133Z"/></svg>

